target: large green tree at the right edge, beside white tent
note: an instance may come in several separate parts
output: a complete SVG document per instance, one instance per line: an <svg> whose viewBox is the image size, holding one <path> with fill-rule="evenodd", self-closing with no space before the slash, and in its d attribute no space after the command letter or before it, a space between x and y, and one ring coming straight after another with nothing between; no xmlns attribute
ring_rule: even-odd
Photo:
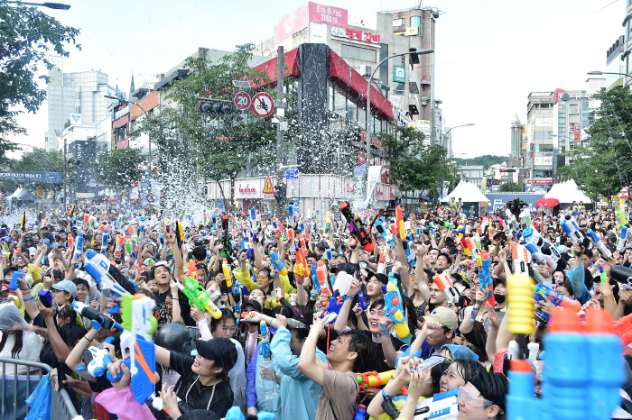
<svg viewBox="0 0 632 420"><path fill-rule="evenodd" d="M573 178L589 196L611 196L630 184L632 176L632 95L627 87L599 92L596 120L586 129L590 142L577 144L572 160L558 172Z"/></svg>

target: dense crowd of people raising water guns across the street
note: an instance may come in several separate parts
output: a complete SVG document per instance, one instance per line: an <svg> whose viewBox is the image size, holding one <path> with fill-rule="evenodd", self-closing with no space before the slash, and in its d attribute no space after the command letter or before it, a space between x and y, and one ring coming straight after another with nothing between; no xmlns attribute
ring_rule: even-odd
<svg viewBox="0 0 632 420"><path fill-rule="evenodd" d="M617 274L632 263L620 210L573 204L529 213L516 199L489 215L465 213L456 200L350 220L339 209L284 220L255 209L216 212L193 223L73 207L2 224L0 358L50 365L77 412L99 420L237 412L413 420L426 418L438 396L452 401L438 418L500 419L509 360L526 358L512 342L537 344L528 359L535 394L543 392L540 354L557 310L534 296L534 333L512 333L507 297L516 270L571 302L564 310L603 310L614 321L632 314L632 286ZM583 240L564 229L571 220ZM527 229L551 244L554 264L530 252L520 266L516 244L528 242ZM480 255L489 261L485 278ZM116 293L88 272L98 258ZM153 302L146 315L155 331L143 333L154 346L155 370L147 368L155 395L145 402L135 400L134 349L125 350L117 328L125 324L122 294ZM107 374L90 371L98 361L91 350L106 350ZM625 361L620 388L629 394Z"/></svg>

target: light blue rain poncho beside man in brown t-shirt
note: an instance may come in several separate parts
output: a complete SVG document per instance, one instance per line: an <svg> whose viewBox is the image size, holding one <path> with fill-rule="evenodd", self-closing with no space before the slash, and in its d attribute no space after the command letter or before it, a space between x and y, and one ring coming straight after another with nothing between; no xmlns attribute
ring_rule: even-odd
<svg viewBox="0 0 632 420"><path fill-rule="evenodd" d="M308 379L299 370L299 358L292 354L292 334L279 327L270 343L270 351L276 361L277 373L281 373L281 417L295 420L311 420L316 417L321 386ZM327 356L316 349L316 358L327 361Z"/></svg>

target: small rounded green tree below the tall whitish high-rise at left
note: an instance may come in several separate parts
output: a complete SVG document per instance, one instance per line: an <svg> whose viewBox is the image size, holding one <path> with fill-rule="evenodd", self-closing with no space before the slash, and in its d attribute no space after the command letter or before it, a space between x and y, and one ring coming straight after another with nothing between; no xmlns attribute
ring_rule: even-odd
<svg viewBox="0 0 632 420"><path fill-rule="evenodd" d="M146 157L140 149L123 148L101 153L94 162L99 182L107 187L132 187L146 173Z"/></svg>

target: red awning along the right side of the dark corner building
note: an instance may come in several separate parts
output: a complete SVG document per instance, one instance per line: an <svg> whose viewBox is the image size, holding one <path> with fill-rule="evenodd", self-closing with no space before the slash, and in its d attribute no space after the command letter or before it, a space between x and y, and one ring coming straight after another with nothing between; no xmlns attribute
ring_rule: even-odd
<svg viewBox="0 0 632 420"><path fill-rule="evenodd" d="M367 79L360 76L358 71L349 67L349 64L332 50L330 50L330 78L336 82L339 87L347 90L351 95L356 96L358 102L366 107ZM388 99L373 86L371 87L371 111L378 114L380 119L395 120L393 106Z"/></svg>

